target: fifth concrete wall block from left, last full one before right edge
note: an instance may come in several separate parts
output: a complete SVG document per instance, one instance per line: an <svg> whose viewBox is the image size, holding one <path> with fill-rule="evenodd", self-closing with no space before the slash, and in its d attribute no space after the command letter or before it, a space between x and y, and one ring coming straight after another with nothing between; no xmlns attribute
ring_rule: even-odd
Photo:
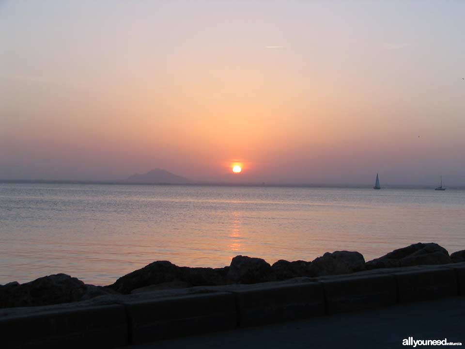
<svg viewBox="0 0 465 349"><path fill-rule="evenodd" d="M406 271L395 276L401 303L458 295L457 274L451 268Z"/></svg>

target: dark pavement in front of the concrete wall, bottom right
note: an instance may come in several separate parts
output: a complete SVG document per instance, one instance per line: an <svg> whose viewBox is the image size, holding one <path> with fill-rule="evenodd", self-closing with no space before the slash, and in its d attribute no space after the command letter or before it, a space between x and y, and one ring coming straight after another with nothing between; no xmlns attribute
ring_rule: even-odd
<svg viewBox="0 0 465 349"><path fill-rule="evenodd" d="M414 340L447 338L448 342L462 343L462 346L431 348L464 348L465 298L400 304L360 313L316 317L126 348L413 348L402 344L403 339L409 336Z"/></svg>

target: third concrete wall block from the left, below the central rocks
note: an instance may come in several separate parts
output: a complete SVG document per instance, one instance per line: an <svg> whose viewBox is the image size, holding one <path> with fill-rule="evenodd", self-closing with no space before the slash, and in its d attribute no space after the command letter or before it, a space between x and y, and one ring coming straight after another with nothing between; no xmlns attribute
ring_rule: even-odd
<svg viewBox="0 0 465 349"><path fill-rule="evenodd" d="M319 283L264 286L234 291L234 295L241 327L325 314Z"/></svg>

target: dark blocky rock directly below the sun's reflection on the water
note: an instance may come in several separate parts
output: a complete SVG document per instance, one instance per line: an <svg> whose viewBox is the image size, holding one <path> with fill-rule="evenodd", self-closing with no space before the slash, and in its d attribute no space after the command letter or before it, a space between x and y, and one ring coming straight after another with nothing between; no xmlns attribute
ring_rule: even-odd
<svg viewBox="0 0 465 349"><path fill-rule="evenodd" d="M271 266L263 259L238 255L231 261L226 279L228 284L255 284L274 277Z"/></svg>

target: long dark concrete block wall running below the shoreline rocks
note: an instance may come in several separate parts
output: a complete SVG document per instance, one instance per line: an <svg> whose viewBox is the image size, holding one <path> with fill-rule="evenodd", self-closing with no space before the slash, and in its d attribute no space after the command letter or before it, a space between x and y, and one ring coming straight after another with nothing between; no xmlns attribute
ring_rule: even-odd
<svg viewBox="0 0 465 349"><path fill-rule="evenodd" d="M465 263L373 270L288 283L210 287L203 292L121 304L0 317L6 348L113 348L269 322L465 296ZM51 307L53 308L53 306ZM19 312L17 312L19 314ZM12 315L13 314L13 315Z"/></svg>

